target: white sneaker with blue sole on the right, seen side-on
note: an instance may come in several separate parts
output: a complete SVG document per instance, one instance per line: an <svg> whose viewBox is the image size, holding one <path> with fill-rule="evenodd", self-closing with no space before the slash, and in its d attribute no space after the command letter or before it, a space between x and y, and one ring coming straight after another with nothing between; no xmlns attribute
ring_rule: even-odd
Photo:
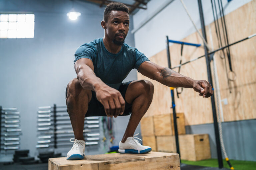
<svg viewBox="0 0 256 170"><path fill-rule="evenodd" d="M143 146L139 143L138 140L136 140L135 137L139 133L135 134L134 136L127 137L126 141L122 143L121 141L119 142L119 153L148 153L152 149L149 146ZM138 138L140 139L140 138ZM140 139L141 140L141 139ZM141 140L142 141L142 140Z"/></svg>

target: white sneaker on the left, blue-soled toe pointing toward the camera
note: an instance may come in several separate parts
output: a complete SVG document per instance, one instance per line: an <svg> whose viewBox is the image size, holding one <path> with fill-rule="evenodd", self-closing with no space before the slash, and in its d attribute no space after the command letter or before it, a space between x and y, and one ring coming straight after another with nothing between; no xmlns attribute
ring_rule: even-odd
<svg viewBox="0 0 256 170"><path fill-rule="evenodd" d="M69 139L69 141L74 142L74 144L67 153L67 160L84 159L85 141L74 138Z"/></svg>

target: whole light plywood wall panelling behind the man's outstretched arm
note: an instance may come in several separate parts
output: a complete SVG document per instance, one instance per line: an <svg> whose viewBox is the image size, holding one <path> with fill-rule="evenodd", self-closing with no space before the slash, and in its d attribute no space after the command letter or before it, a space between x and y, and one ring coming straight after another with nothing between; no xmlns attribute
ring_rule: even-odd
<svg viewBox="0 0 256 170"><path fill-rule="evenodd" d="M241 40L256 33L256 1L250 1L237 10L225 16L229 43ZM219 24L221 23L219 19ZM222 33L222 29L221 29ZM217 49L218 41L215 33L214 23L206 26L207 41L210 47ZM169 37L171 39L171 37ZM212 39L212 41L211 41ZM184 38L184 42L201 43L201 38L195 32ZM213 42L213 43L211 43ZM224 40L222 38L222 44ZM222 51L215 53L217 73L220 86L221 99L227 98L228 105L223 105L224 121L237 121L256 118L256 38L240 42L230 47L232 67L236 73L236 80L230 82L231 92L229 93L226 67L229 69L227 58L221 59ZM172 67L180 62L180 44L170 43L170 54ZM226 53L226 50L224 51ZM183 47L182 62L204 55L204 48L187 46ZM166 50L150 57L150 60L161 66L168 66ZM225 62L226 61L226 62ZM212 65L212 63L211 63ZM178 68L174 69L178 71ZM205 58L198 59L181 67L180 73L196 80L208 80ZM212 69L213 73L213 69ZM149 78L138 73L138 79ZM214 77L213 77L214 80ZM172 113L171 95L169 87L157 81L150 80L155 87L152 104L147 111L147 116ZM180 89L179 89L180 90ZM177 98L175 92L176 112L183 112L185 125L198 125L212 123L212 108L210 98L202 98L193 89L183 89L182 94ZM215 97L216 98L216 97Z"/></svg>

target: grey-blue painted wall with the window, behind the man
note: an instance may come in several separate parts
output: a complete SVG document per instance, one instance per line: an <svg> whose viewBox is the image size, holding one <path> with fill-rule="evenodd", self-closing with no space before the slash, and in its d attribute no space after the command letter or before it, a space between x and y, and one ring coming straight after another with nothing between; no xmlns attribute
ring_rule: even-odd
<svg viewBox="0 0 256 170"><path fill-rule="evenodd" d="M35 14L33 39L0 39L0 105L18 108L23 133L20 148L29 149L30 156L36 156L38 107L53 106L54 103L66 105L66 86L76 77L73 66L75 50L83 43L104 36L101 27L104 7L75 1L74 7L81 16L71 21L66 16L72 7L70 0L0 0L0 4L2 13ZM133 29L132 16L130 19L130 29ZM133 34L128 33L125 42L134 46ZM137 79L135 70L125 81L134 79ZM114 145L122 139L129 118L114 118ZM136 132L140 132L140 126ZM104 148L100 140L96 147L86 147L85 154L105 153L111 145ZM69 149L64 148L63 155ZM0 161L11 159L12 155L0 155Z"/></svg>

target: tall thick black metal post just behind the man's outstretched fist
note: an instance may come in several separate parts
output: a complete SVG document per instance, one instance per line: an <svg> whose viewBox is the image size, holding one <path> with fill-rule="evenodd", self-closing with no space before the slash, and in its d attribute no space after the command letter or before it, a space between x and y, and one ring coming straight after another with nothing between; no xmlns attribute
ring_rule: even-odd
<svg viewBox="0 0 256 170"><path fill-rule="evenodd" d="M202 34L203 34L205 41L207 42L201 0L198 0L198 8L199 8L200 21L201 21L201 27L202 27ZM208 81L210 84L212 84L212 73L211 73L210 59L209 59L208 49L205 44L204 44L204 52L205 52L205 59L206 59L206 66L207 66ZM213 122L214 122L215 140L216 140L216 145L217 145L218 163L219 163L219 168L223 168L223 161L222 161L221 147L220 147L220 135L219 135L214 95L211 96L211 103L212 103L212 114L213 114Z"/></svg>

